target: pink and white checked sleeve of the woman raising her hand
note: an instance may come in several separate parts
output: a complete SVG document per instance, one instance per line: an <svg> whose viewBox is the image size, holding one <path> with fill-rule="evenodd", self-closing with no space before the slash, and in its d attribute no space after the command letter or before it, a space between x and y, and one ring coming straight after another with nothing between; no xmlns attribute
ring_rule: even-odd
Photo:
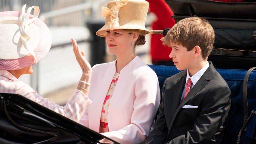
<svg viewBox="0 0 256 144"><path fill-rule="evenodd" d="M47 98L41 97L34 89L22 81L18 81L14 88L14 93L24 96L46 108L55 111L75 122L78 122L84 111L90 105L91 100L84 95L81 91L76 89L72 97L68 100L65 106L60 106L54 102L49 101Z"/></svg>

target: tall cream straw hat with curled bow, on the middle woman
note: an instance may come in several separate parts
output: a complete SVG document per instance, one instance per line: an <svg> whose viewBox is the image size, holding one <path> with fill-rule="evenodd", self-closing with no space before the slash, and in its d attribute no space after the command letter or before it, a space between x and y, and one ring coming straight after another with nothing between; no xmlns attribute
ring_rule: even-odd
<svg viewBox="0 0 256 144"><path fill-rule="evenodd" d="M102 7L102 17L106 17L105 25L96 32L96 35L106 37L108 30L114 29L139 29L145 34L149 3L145 0L116 0L109 2L107 7Z"/></svg>

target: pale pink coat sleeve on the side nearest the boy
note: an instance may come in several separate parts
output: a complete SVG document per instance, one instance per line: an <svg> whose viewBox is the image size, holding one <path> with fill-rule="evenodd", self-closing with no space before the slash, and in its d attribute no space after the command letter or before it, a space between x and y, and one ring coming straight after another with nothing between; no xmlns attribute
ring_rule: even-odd
<svg viewBox="0 0 256 144"><path fill-rule="evenodd" d="M141 143L146 139L160 103L158 78L153 71L138 78L135 96L131 124L118 131L102 133L104 136L119 143Z"/></svg>

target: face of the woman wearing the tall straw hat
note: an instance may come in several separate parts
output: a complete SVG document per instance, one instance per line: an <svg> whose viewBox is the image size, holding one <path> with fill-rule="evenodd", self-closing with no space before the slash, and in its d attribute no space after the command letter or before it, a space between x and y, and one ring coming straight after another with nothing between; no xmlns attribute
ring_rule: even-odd
<svg viewBox="0 0 256 144"><path fill-rule="evenodd" d="M137 40L138 34L129 34L128 32L115 29L108 30L106 34L106 43L108 45L109 53L124 54L127 52L134 52L134 44L132 42Z"/></svg>

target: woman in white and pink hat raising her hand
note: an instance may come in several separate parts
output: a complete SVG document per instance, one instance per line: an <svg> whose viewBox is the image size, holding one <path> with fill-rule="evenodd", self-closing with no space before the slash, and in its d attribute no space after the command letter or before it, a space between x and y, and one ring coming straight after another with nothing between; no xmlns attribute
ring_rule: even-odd
<svg viewBox="0 0 256 144"><path fill-rule="evenodd" d="M78 122L91 103L87 97L91 76L89 64L80 65L83 75L77 90L65 106L42 98L29 85L18 80L22 74L32 74L32 65L45 57L51 47L50 31L45 23L37 18L39 7L30 7L26 13L25 8L26 5L22 7L21 12L0 12L0 93L20 94ZM33 8L34 15L30 15ZM74 52L77 50L74 49Z"/></svg>

